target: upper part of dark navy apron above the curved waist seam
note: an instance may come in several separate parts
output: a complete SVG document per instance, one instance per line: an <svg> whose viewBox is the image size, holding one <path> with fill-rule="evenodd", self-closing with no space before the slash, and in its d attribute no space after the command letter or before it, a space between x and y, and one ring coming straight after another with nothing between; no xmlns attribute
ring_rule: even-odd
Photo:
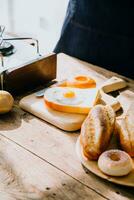
<svg viewBox="0 0 134 200"><path fill-rule="evenodd" d="M101 32L134 37L133 0L72 0L73 20Z"/></svg>

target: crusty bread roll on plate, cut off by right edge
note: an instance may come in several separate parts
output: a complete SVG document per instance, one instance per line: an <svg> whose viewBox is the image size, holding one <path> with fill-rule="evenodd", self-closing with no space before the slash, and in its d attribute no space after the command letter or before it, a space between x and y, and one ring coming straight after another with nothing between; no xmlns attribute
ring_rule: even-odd
<svg viewBox="0 0 134 200"><path fill-rule="evenodd" d="M134 157L134 103L131 104L125 118L116 122L120 146L131 157Z"/></svg>

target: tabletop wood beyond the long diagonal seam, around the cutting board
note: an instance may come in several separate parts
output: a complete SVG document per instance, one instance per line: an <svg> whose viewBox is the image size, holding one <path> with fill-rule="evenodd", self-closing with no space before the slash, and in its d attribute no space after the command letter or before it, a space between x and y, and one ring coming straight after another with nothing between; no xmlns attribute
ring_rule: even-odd
<svg viewBox="0 0 134 200"><path fill-rule="evenodd" d="M60 54L58 57L58 79L78 74L92 76L98 84L102 84L106 80L103 75L106 75L107 78L115 75L107 70ZM133 90L133 81L126 80L131 86L130 89ZM123 93L121 94L124 98ZM127 95L125 97L127 98ZM120 100L123 98L121 97ZM27 151L34 153L40 159L51 163L64 174L72 176L83 186L92 188L108 199L126 200L134 198L132 189L104 181L82 167L75 153L78 132L67 133L35 118L18 107L18 100L16 100L13 111L0 118L0 133L21 145ZM68 195L69 193L68 191Z"/></svg>

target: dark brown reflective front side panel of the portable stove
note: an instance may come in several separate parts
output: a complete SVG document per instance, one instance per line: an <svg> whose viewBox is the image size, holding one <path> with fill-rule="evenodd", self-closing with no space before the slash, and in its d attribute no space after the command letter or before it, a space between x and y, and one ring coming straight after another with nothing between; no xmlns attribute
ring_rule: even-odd
<svg viewBox="0 0 134 200"><path fill-rule="evenodd" d="M21 94L55 78L56 54L49 54L4 71L4 88L11 93Z"/></svg>

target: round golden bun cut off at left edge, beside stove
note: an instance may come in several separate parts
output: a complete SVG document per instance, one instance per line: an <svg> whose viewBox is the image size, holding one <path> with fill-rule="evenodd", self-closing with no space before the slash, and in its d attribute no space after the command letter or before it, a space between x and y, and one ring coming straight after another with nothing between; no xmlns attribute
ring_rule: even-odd
<svg viewBox="0 0 134 200"><path fill-rule="evenodd" d="M0 114L9 112L13 106L13 97L7 92L0 90Z"/></svg>

